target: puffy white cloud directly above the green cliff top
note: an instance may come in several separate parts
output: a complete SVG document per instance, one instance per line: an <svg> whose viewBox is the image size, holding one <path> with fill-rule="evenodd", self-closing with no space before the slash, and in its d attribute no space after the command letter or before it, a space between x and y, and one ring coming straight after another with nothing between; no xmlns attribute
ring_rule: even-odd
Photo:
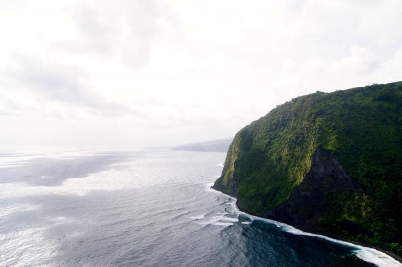
<svg viewBox="0 0 402 267"><path fill-rule="evenodd" d="M290 99L317 90L331 92L394 82L402 79L399 72L401 66L402 47L387 59L366 47L354 45L348 55L334 60L317 58L303 64L284 60L272 90L282 89L281 97Z"/></svg>

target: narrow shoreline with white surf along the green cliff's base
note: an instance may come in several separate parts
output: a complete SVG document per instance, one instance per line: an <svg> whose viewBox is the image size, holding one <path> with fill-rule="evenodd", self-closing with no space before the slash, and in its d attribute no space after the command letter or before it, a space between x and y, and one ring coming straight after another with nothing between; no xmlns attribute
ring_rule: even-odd
<svg viewBox="0 0 402 267"><path fill-rule="evenodd" d="M286 225L286 226L288 226L288 227L292 227L292 228L294 228L294 229L296 229L297 231L300 231L300 232L302 232L302 233L306 233L308 236L326 239L327 241L330 241L330 242L335 242L335 243L350 243L350 244L353 244L353 245L361 246L361 247L363 247L363 248L374 249L374 250L377 250L378 252L382 252L382 253L386 254L387 256L391 257L393 260L395 260L396 262L398 262L398 263L400 263L400 264L402 265L402 256L401 256L401 255L398 255L398 254L396 254L396 253L394 253L394 252L392 252L392 251L384 250L384 249L377 248L377 247L374 247L374 246L370 246L370 245L367 245L367 244L364 244L364 243L359 243L359 242L355 242L355 241L350 241L350 240L343 239L343 238L340 238L340 237L324 236L324 235L321 235L321 234L315 234L315 233L305 232L305 231L303 231L303 230L300 230L300 229L298 229L298 228L296 228L296 227L294 227L294 226L292 226L292 225L290 225L290 224L286 224L286 223L284 223L284 222L280 222L280 221L276 221L276 220L273 220L273 219L270 219L270 218L264 218L264 217L260 217L260 216L256 216L256 215L249 214L249 213L247 213L247 212L241 210L241 208L237 205L237 198L236 198L236 197L231 196L231 195L229 195L229 194L225 194L225 193L223 193L223 192L221 192L221 191L219 191L219 190L213 188L213 186L210 186L210 190L213 190L213 191L218 192L218 193L220 193L220 194L224 194L224 195L226 195L226 196L229 196L229 197L232 198L232 199L235 199L236 202L234 203L234 206L235 206L235 208L236 208L240 213L244 213L244 214L247 214L247 215L249 215L249 216L251 216L251 217L255 217L255 218L262 219L262 220L264 220L264 221L266 221L266 222L272 221L272 223L280 223L280 224ZM267 221L267 220L269 220L269 221Z"/></svg>

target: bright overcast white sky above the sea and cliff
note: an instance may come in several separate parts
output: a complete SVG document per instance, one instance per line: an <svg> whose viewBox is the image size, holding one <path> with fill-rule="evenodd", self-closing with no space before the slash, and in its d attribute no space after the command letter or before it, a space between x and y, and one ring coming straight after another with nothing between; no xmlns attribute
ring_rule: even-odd
<svg viewBox="0 0 402 267"><path fill-rule="evenodd" d="M402 80L401 0L3 0L0 147L232 137L316 91Z"/></svg>

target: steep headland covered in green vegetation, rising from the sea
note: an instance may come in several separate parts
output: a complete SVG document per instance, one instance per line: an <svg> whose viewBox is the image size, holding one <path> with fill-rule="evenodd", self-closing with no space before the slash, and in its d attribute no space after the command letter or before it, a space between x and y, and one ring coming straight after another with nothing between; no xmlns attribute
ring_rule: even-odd
<svg viewBox="0 0 402 267"><path fill-rule="evenodd" d="M402 252L402 82L317 92L240 130L213 188L243 211Z"/></svg>

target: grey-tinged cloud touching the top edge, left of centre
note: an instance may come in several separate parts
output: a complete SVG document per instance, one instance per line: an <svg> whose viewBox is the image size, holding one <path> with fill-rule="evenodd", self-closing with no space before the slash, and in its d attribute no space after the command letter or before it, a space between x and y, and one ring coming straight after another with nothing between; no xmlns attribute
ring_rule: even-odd
<svg viewBox="0 0 402 267"><path fill-rule="evenodd" d="M166 27L178 25L168 5L154 0L80 1L69 14L78 35L54 42L55 49L117 57L134 68L149 62L152 43Z"/></svg>

